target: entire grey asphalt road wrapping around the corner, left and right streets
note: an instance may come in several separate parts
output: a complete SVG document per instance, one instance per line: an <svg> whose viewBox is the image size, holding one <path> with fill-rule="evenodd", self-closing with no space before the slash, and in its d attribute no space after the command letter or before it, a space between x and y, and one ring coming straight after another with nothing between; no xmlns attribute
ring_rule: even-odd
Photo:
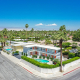
<svg viewBox="0 0 80 80"><path fill-rule="evenodd" d="M0 80L80 80L80 69L63 77L43 79L27 72L0 54Z"/></svg>

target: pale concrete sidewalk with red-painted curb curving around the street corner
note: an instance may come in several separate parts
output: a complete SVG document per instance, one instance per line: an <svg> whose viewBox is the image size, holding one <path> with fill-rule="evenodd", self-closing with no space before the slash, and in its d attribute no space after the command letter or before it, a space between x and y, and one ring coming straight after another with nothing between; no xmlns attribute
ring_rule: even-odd
<svg viewBox="0 0 80 80"><path fill-rule="evenodd" d="M22 63L20 61L20 59L17 59L14 56L8 55L5 52L1 51L1 54L4 55L5 57L7 57L9 60L11 60L12 62L18 64L19 66L23 67L25 70L27 70L29 73L38 76L38 77L42 77L42 78L53 78L53 77L60 77L60 76L64 76L78 68L80 68L80 63L73 66L73 67L69 67L66 71L64 72L57 72L55 74L44 74L44 73L40 73L34 69L32 69L31 67L29 67L28 65L25 65L24 63Z"/></svg>

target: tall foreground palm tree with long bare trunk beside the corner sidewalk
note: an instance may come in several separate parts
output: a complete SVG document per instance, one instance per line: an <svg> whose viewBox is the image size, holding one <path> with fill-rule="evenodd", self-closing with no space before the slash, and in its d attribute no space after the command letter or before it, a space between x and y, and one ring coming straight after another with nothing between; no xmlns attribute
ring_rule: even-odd
<svg viewBox="0 0 80 80"><path fill-rule="evenodd" d="M60 71L62 72L62 42L63 40L67 40L67 34L64 33L63 31L58 32L58 40L59 40L59 45L60 45L60 63L61 63L61 67L60 67Z"/></svg>

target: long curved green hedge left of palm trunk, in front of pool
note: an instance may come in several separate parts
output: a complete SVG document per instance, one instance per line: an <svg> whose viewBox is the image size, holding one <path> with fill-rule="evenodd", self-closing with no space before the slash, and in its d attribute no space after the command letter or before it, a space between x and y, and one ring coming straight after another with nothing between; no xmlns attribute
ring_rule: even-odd
<svg viewBox="0 0 80 80"><path fill-rule="evenodd" d="M34 59L31 59L31 58L28 58L28 57L26 57L26 56L21 56L21 58L22 58L23 60L26 60L26 61L28 61L28 62L30 62L30 63L38 66L38 67L41 67L41 68L56 68L56 67L59 67L59 64L49 65L49 64L46 64L46 63L40 63L40 62L38 62L38 61L36 61L36 60L34 60Z"/></svg>

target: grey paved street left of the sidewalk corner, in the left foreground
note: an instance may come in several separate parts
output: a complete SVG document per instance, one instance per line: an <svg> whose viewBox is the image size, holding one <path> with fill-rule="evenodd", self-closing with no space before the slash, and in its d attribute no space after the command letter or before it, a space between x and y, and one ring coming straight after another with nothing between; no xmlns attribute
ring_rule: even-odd
<svg viewBox="0 0 80 80"><path fill-rule="evenodd" d="M0 80L46 80L35 77L0 54ZM48 79L50 80L50 79Z"/></svg>

